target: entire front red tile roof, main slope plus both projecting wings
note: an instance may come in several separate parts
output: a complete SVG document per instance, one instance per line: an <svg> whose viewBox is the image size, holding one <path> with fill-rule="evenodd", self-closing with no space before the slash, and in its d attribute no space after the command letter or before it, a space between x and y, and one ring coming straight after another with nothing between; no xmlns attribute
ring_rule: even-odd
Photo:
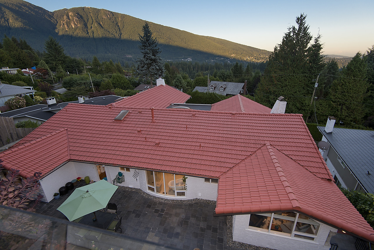
<svg viewBox="0 0 374 250"><path fill-rule="evenodd" d="M298 114L73 103L0 159L22 176L75 160L220 178L217 213L297 210L370 240L374 232L331 182Z"/></svg>

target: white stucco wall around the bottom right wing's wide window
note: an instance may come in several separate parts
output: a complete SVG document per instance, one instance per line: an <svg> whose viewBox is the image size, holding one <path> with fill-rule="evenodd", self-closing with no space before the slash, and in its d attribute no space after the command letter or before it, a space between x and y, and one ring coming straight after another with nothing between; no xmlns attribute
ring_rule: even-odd
<svg viewBox="0 0 374 250"><path fill-rule="evenodd" d="M233 240L260 247L269 247L277 250L328 250L330 244L325 241L330 231L337 229L321 224L317 238L314 241L291 238L288 236L272 234L254 229L248 229L249 214L233 216Z"/></svg>

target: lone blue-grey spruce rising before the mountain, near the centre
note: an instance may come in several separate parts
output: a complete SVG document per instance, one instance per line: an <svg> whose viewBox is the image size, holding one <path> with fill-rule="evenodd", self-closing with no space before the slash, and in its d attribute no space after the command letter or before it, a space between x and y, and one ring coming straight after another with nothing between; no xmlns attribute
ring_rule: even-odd
<svg viewBox="0 0 374 250"><path fill-rule="evenodd" d="M138 47L141 50L143 57L138 58L138 66L135 70L135 75L137 75L142 83L148 80L153 85L153 80L159 74L163 74L164 68L161 62L159 54L161 53L158 46L158 41L153 38L152 31L149 28L148 22L145 22L142 28L143 35L139 34L139 40L141 45Z"/></svg>

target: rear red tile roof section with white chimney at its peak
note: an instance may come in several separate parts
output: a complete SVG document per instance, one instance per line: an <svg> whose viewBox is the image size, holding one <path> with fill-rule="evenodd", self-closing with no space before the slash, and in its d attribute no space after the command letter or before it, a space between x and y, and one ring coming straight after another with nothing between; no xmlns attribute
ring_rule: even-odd
<svg viewBox="0 0 374 250"><path fill-rule="evenodd" d="M159 85L115 102L122 107L166 108L170 103L185 103L191 96L169 85Z"/></svg>

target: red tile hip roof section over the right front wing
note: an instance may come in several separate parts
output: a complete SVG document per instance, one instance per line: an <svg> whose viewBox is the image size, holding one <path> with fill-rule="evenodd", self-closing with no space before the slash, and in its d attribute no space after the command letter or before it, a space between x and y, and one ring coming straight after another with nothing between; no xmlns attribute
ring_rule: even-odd
<svg viewBox="0 0 374 250"><path fill-rule="evenodd" d="M374 241L373 228L332 181L316 177L269 143L221 175L215 211L297 211Z"/></svg>

